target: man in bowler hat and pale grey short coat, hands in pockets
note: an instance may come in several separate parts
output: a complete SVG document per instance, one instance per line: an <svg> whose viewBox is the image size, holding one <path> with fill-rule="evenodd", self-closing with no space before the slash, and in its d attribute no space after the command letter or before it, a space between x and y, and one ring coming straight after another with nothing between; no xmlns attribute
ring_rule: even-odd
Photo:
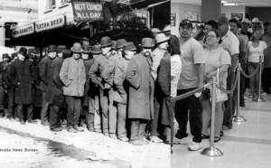
<svg viewBox="0 0 271 168"><path fill-rule="evenodd" d="M81 44L75 42L70 49L72 57L64 60L60 78L64 84L63 94L68 106L67 130L71 133L82 132L79 127L79 117L81 114L81 99L84 96L84 86L86 83L86 71L84 61L80 59L83 51Z"/></svg>

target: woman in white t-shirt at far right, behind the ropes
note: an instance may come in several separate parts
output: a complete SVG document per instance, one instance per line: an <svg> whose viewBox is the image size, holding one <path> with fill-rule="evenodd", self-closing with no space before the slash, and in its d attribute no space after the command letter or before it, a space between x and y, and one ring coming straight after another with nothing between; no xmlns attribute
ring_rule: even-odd
<svg viewBox="0 0 271 168"><path fill-rule="evenodd" d="M266 42L261 41L261 30L259 29L255 30L251 34L251 42L248 42L248 47L247 47L249 74L252 74L256 70L260 56L263 58L264 50L266 49L266 47L267 47ZM262 70L263 70L263 66L262 66ZM259 71L256 73L254 77L250 79L250 82L249 82L252 98L255 98L256 95L258 95L258 77L259 77ZM255 94L255 86L257 89L256 94Z"/></svg>

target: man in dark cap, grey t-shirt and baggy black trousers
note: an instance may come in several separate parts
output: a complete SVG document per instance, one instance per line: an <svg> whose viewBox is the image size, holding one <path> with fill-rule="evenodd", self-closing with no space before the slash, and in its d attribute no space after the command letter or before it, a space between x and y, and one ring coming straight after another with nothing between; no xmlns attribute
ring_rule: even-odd
<svg viewBox="0 0 271 168"><path fill-rule="evenodd" d="M177 96L203 87L204 59L200 42L192 38L192 22L184 19L179 26L180 48L182 52L182 73L178 82ZM188 115L188 111L190 111ZM187 144L186 126L189 119L191 133L193 135L192 145L188 146L191 151L197 151L201 146L201 102L200 98L192 95L176 101L175 118L179 124L176 143ZM188 118L189 116L189 118Z"/></svg>

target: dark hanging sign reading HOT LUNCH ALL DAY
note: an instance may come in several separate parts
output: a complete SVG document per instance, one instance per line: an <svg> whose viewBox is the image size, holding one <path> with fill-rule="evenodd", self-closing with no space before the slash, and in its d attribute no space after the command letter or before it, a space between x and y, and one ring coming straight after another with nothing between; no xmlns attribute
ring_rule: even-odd
<svg viewBox="0 0 271 168"><path fill-rule="evenodd" d="M94 22L104 19L103 6L101 3L72 0L72 9L76 22Z"/></svg>

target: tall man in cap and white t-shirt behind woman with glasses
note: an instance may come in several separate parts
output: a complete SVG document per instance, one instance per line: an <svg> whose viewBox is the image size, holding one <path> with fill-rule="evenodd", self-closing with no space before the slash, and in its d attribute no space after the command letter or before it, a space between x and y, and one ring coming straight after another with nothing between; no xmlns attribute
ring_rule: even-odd
<svg viewBox="0 0 271 168"><path fill-rule="evenodd" d="M219 17L217 23L219 24L219 31L222 36L222 42L220 43L220 46L222 46L225 50L229 51L229 55L231 58L231 66L228 70L229 75L227 79L227 89L230 90L233 87L236 77L235 71L238 67L239 41L237 36L234 35L234 33L230 32L227 17ZM231 120L234 114L233 106L235 105L235 102L237 100L235 92L236 89L234 90L233 98L229 97L229 99L225 101L226 109L224 111L222 126L223 130L228 130L232 128ZM231 103L232 106L230 106L229 103Z"/></svg>

